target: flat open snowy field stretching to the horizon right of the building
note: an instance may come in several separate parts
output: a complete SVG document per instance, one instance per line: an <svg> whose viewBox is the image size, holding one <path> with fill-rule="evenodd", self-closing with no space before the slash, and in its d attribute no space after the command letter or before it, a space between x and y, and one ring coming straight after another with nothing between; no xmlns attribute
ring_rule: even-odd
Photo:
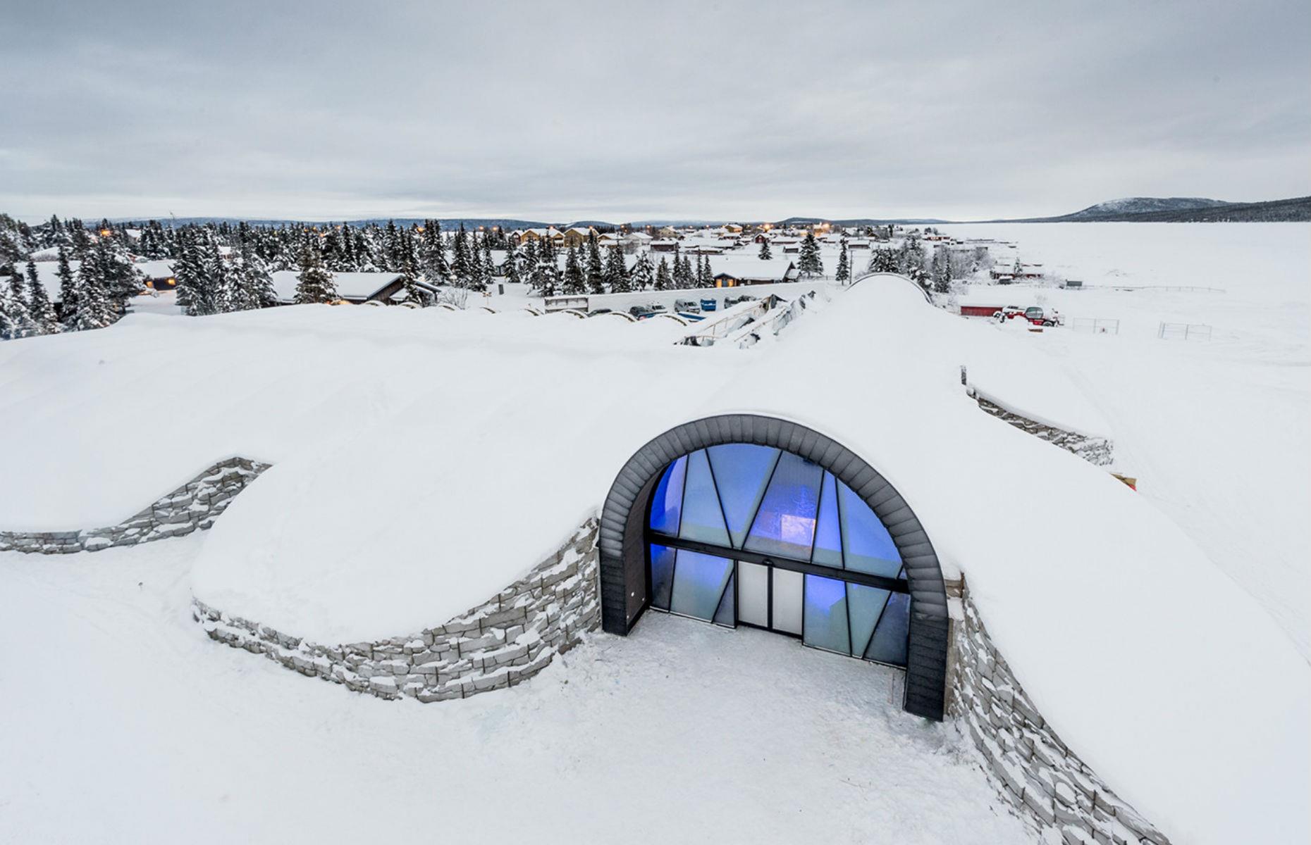
<svg viewBox="0 0 1311 845"><path fill-rule="evenodd" d="M961 301L1066 316L1062 329L1015 334L1062 362L1110 422L1116 469L1311 659L1311 225L943 229L1015 241L1023 261L1091 286L977 286ZM1150 290L1177 286L1221 291ZM1075 317L1118 320L1120 333L1078 331ZM1159 339L1162 322L1209 325L1211 337Z"/></svg>

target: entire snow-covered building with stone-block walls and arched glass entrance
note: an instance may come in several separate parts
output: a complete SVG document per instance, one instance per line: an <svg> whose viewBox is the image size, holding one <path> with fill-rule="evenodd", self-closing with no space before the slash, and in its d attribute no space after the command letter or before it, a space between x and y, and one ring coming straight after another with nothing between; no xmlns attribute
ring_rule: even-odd
<svg viewBox="0 0 1311 845"><path fill-rule="evenodd" d="M743 330L777 334L684 343ZM144 379L161 347L206 376ZM212 527L194 618L303 675L442 701L648 613L756 626L894 667L869 671L901 673L906 718L957 723L1066 841L1306 841L1306 662L1159 510L1034 436L1112 435L1055 362L905 278L691 326L130 314L0 345L0 549ZM180 409L186 436L121 448Z"/></svg>

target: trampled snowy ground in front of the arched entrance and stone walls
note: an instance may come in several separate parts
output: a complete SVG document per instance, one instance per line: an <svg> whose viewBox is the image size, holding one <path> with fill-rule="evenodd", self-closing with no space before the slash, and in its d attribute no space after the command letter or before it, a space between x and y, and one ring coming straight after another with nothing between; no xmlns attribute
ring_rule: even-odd
<svg viewBox="0 0 1311 845"><path fill-rule="evenodd" d="M0 841L1032 841L899 675L652 614L418 705L208 641L203 536L0 554Z"/></svg>

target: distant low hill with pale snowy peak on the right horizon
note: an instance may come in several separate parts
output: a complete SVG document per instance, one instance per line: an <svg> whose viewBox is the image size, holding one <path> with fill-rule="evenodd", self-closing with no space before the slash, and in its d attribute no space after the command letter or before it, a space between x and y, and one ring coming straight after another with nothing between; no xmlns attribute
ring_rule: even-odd
<svg viewBox="0 0 1311 845"><path fill-rule="evenodd" d="M1293 223L1311 220L1311 197L1230 203L1202 197L1130 197L1058 217L1004 223ZM1002 221L999 221L1002 223Z"/></svg>

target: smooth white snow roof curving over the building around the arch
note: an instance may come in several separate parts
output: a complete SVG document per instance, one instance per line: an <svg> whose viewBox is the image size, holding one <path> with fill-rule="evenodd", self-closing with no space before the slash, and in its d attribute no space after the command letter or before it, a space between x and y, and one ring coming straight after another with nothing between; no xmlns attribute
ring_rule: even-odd
<svg viewBox="0 0 1311 845"><path fill-rule="evenodd" d="M402 635L524 574L648 439L783 417L901 491L1044 717L1152 823L1306 838L1307 664L1151 504L960 384L966 364L1004 398L1029 385L1012 406L1105 431L1054 364L898 276L776 343L675 346L687 331L308 305L0 345L0 456L22 491L0 528L111 524L220 457L269 461L206 538L197 597L317 642ZM160 348L174 371L143 364Z"/></svg>

